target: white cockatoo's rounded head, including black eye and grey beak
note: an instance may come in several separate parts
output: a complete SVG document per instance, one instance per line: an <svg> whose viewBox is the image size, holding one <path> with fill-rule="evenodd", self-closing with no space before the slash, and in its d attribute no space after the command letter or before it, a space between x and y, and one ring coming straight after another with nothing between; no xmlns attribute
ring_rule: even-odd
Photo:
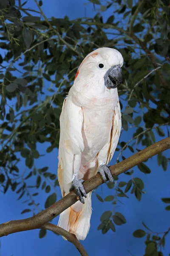
<svg viewBox="0 0 170 256"><path fill-rule="evenodd" d="M81 84L86 82L105 85L109 90L117 88L122 83L123 57L120 52L112 48L99 48L88 54L79 66L75 82L83 78Z"/></svg>

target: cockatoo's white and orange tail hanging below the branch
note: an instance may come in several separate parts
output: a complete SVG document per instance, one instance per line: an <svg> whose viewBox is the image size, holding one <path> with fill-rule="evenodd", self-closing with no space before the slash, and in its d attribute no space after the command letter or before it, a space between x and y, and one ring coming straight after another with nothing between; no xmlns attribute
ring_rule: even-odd
<svg viewBox="0 0 170 256"><path fill-rule="evenodd" d="M80 208L82 209L77 211ZM83 206L78 201L59 215L58 226L76 235L78 240L84 240L90 228L91 212L90 192L87 194Z"/></svg>

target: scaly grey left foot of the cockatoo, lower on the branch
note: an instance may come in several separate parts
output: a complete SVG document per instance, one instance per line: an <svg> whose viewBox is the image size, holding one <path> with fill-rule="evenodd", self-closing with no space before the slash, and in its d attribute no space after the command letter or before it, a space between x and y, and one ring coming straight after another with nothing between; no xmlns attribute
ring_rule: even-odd
<svg viewBox="0 0 170 256"><path fill-rule="evenodd" d="M79 180L77 175L75 175L73 183L72 183L71 188L70 188L70 191L73 190L73 189L75 190L76 195L79 197L79 201L82 204L85 203L85 200L84 200L83 196L85 198L87 198L84 186L82 185L83 182L84 182L84 180L82 180L82 179Z"/></svg>

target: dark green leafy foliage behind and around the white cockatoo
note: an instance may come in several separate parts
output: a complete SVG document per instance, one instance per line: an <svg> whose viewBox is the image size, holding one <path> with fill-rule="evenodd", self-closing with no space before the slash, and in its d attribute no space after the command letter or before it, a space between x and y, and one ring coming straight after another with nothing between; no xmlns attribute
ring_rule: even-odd
<svg viewBox="0 0 170 256"><path fill-rule="evenodd" d="M83 58L98 47L113 47L122 53L123 83L119 87L122 110L122 133L131 129L127 141L121 137L117 162L124 160L127 151L133 154L156 142L159 137L169 137L170 132L170 8L168 0L160 1L107 1L89 0L98 10L95 17L69 20L45 17L43 2L34 0L36 10L25 8L26 2L0 1L0 189L9 188L18 199L27 195L26 204L40 210L34 197L42 190L48 193L45 207L57 200L55 187L57 175L48 166L37 169L35 159L43 157L37 143L47 145L50 152L59 145L59 116L62 102L74 82ZM110 10L113 15L106 20L103 14ZM123 22L122 22L123 20ZM167 127L167 130L162 129ZM166 134L165 134L166 131ZM128 138L129 136L127 136ZM49 144L50 143L50 144ZM18 164L25 159L26 169ZM158 165L167 170L170 158L157 155ZM138 168L144 174L151 170L147 163ZM133 177L133 170L126 172L129 181L115 185L107 183L112 195L99 201L110 201L113 211L101 216L98 230L105 234L115 225L126 223L125 217L115 211L118 198L134 194L141 201L144 183ZM35 176L35 184L28 180ZM34 193L30 192L34 190ZM130 191L130 193L129 193ZM114 194L114 195L113 195ZM162 198L170 203L169 198ZM166 210L170 210L167 205ZM145 224L144 228L148 230ZM40 231L40 238L45 236ZM136 230L135 237L146 236L145 256L161 256L166 232L162 235L147 234Z"/></svg>

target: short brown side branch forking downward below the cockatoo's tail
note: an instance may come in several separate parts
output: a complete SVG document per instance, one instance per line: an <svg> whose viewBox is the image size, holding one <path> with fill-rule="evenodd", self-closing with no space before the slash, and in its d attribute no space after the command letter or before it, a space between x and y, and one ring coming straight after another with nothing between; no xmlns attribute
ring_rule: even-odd
<svg viewBox="0 0 170 256"><path fill-rule="evenodd" d="M61 227L58 227L52 223L46 223L42 228L46 230L51 230L54 233L57 233L59 235L64 236L68 241L70 241L74 246L77 248L79 253L82 256L88 256L87 252L85 251L85 248L82 246L82 244L77 240L76 236L66 230L64 230Z"/></svg>

